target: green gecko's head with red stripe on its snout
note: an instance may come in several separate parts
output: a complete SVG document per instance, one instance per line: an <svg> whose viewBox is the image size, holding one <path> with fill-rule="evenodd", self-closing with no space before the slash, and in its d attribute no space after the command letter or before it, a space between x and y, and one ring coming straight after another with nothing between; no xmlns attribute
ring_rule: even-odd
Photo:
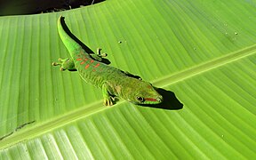
<svg viewBox="0 0 256 160"><path fill-rule="evenodd" d="M163 101L163 96L156 92L154 86L148 82L138 80L130 89L127 100L134 104L158 104Z"/></svg>

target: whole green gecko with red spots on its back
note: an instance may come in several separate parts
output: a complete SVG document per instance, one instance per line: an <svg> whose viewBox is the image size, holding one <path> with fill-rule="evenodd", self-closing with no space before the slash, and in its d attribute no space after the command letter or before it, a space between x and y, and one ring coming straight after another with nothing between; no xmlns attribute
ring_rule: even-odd
<svg viewBox="0 0 256 160"><path fill-rule="evenodd" d="M158 104L163 101L163 96L156 92L152 84L143 81L140 76L133 76L118 68L102 63L100 49L97 54L87 53L82 46L68 36L63 29L64 17L58 20L58 32L60 39L68 49L71 58L59 59L52 66L60 65L60 70L77 70L85 82L102 89L104 105L112 106L114 97L120 97L134 104Z"/></svg>

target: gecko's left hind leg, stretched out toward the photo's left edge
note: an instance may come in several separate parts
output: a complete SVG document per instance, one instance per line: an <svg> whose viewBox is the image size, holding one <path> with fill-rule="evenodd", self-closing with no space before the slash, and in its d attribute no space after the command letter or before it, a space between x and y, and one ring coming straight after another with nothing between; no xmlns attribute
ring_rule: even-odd
<svg viewBox="0 0 256 160"><path fill-rule="evenodd" d="M60 65L60 70L64 71L68 69L69 71L75 71L75 63L72 59L59 59L59 62L53 62L52 66L59 66Z"/></svg>

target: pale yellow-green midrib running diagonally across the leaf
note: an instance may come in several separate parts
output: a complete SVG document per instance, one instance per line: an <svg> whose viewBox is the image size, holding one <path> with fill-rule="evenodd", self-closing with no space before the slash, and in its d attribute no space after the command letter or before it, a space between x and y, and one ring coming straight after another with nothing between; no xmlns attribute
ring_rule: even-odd
<svg viewBox="0 0 256 160"><path fill-rule="evenodd" d="M164 78L156 80L155 82L153 82L153 84L157 87L165 87L170 84L175 84L192 76L203 74L204 72L207 72L208 70L211 70L213 68L219 68L230 62L241 60L244 57L248 57L255 52L256 44L245 47L244 49L239 50L237 52L231 52L218 59L210 60L206 63L199 64L196 67L185 69L170 76L165 76ZM119 105L123 102L124 100L120 100L116 105ZM86 116L96 114L103 109L105 110L108 108L102 105L102 100L99 100L93 104L90 104L89 107L87 106L86 108L76 109L73 112L69 112L66 115L54 118L51 121L45 122L44 124L37 124L28 129L25 128L20 132L14 132L11 136L6 137L4 140L1 140L0 149L8 148L23 140L33 139L37 136L44 134L45 132L50 132L65 124L69 124L74 121L77 121L78 119L82 119Z"/></svg>

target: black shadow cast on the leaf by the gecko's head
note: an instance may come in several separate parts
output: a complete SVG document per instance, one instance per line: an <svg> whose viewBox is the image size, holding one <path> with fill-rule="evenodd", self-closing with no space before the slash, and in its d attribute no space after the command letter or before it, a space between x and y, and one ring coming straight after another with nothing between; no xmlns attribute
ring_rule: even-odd
<svg viewBox="0 0 256 160"><path fill-rule="evenodd" d="M162 88L155 88L156 91L163 96L163 102L156 105L139 105L148 108L161 108L167 110L179 110L183 108L183 104L177 99L174 92L166 91Z"/></svg>

